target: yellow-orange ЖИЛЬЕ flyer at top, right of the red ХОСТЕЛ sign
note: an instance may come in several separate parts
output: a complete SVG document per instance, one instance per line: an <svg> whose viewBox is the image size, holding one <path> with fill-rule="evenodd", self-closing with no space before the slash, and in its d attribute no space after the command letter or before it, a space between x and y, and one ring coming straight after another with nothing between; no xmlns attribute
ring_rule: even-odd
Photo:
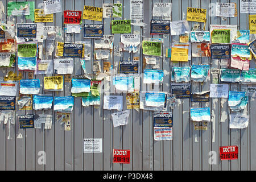
<svg viewBox="0 0 256 182"><path fill-rule="evenodd" d="M84 6L84 13L82 14L82 19L96 20L101 22L102 15L102 7Z"/></svg>

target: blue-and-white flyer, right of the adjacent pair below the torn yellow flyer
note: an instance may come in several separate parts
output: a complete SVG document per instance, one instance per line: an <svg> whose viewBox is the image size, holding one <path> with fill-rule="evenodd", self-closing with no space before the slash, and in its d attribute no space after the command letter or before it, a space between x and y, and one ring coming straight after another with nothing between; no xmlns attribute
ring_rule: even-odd
<svg viewBox="0 0 256 182"><path fill-rule="evenodd" d="M54 111L72 111L74 106L73 96L54 97Z"/></svg>

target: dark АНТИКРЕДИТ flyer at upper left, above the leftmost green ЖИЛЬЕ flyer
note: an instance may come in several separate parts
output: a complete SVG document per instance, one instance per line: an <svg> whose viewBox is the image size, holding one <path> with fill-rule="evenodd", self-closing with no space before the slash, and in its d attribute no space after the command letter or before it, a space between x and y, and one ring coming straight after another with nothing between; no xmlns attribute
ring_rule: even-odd
<svg viewBox="0 0 256 182"><path fill-rule="evenodd" d="M17 38L36 38L36 23L17 23Z"/></svg>

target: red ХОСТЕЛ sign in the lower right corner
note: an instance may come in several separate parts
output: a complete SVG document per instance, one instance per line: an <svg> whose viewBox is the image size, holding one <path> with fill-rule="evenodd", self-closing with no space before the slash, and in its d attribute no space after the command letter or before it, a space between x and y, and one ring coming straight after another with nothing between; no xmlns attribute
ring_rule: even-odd
<svg viewBox="0 0 256 182"><path fill-rule="evenodd" d="M238 159L238 146L220 147L221 160Z"/></svg>

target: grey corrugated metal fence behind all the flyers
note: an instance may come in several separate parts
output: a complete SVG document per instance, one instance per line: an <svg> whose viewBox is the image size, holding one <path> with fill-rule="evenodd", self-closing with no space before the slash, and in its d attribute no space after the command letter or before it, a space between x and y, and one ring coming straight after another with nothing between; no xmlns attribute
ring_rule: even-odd
<svg viewBox="0 0 256 182"><path fill-rule="evenodd" d="M36 8L42 8L43 1L35 1ZM74 1L63 0L63 10L82 10L84 5L101 7L102 3L117 3L118 1L110 0L88 0ZM123 19L130 19L130 1L119 1L123 4ZM179 36L162 36L150 35L150 20L152 14L152 6L154 2L172 2L172 20L185 19L187 7L200 7L207 9L206 29L209 30L210 24L237 24L238 29L248 29L248 15L240 14L240 1L213 1L213 0L162 0L147 1L144 0L144 23L147 27L142 28L133 26L132 31L139 31L144 38L154 37L163 38L163 54L166 48L170 48L173 41L179 41ZM209 16L209 12L213 11L213 3L216 2L235 2L237 3L238 16L235 18L222 19L220 17ZM3 1L5 12L7 12L7 1ZM63 14L54 14L54 22L46 23L47 25L55 25L63 27ZM4 15L4 20L13 23L25 23L23 16ZM110 18L104 19L105 34L110 34ZM31 21L30 21L31 22ZM94 23L91 20L82 20L82 23ZM97 22L96 22L97 23ZM192 27L194 22L189 22ZM201 27L203 27L203 24ZM83 40L83 31L76 34L73 41ZM60 41L56 38L55 42ZM114 47L118 47L120 35L114 34ZM92 42L92 52L94 49L94 41ZM44 48L51 43L51 40L44 42ZM47 50L46 50L47 52ZM142 52L142 50L141 50ZM46 54L44 53L44 56ZM133 57L143 59L142 53L123 52L122 57L114 56L110 60L113 65L119 60L133 59ZM46 57L43 57L46 58ZM53 57L50 57L53 59ZM79 59L74 59L74 74L83 73ZM141 61L142 63L142 61ZM212 68L223 68L220 61L211 61L204 57L192 57L192 61L188 63L170 63L170 59L162 57L160 59L160 68L165 69L168 73L173 65L187 66L192 64L211 63ZM88 73L92 73L93 61L86 63ZM142 64L141 64L142 65ZM103 66L103 63L102 65ZM255 62L251 61L251 68L255 68ZM12 68L3 69L0 76ZM15 68L18 72L18 68ZM141 73L142 67L141 67ZM24 78L28 78L28 73L23 72ZM44 75L36 75L43 82ZM164 84L160 87L162 91L170 90L171 75L164 75ZM209 90L210 82L203 85L192 82L193 92ZM238 84L229 84L230 90L241 90L246 86ZM69 96L71 83L65 82L64 92L55 92L55 96ZM51 92L44 92L42 94ZM123 107L126 109L125 96L123 94ZM103 101L101 101L103 104ZM213 122L208 125L207 131L199 131L193 128L190 121L189 109L192 106L205 107L209 105L212 111ZM171 141L155 141L153 137L152 127L152 111L131 110L129 124L121 127L113 127L111 115L114 110L103 110L102 106L98 109L93 106L82 107L80 98L75 98L75 106L72 113L71 131L64 131L64 126L60 122L54 121L52 129L19 129L18 117L16 117L15 125L0 125L0 169L1 170L255 170L256 159L253 158L255 149L256 114L250 108L256 106L256 101L250 98L247 105L247 114L250 116L249 126L246 129L229 129L229 122L220 122L223 111L228 113L227 100L224 98L211 99L209 104L192 104L189 99L181 101L181 105L174 110L174 139ZM18 114L31 114L32 111L16 110ZM33 111L33 113L53 114L52 111ZM21 134L22 138L17 138ZM8 138L10 135L10 139ZM85 154L83 152L84 138L103 138L103 152L99 154ZM218 159L218 150L220 146L237 145L239 147L238 160L222 161ZM123 148L131 150L130 164L113 164L112 150L113 148ZM46 165L38 163L39 151L46 151ZM217 164L210 165L209 151L217 152Z"/></svg>

